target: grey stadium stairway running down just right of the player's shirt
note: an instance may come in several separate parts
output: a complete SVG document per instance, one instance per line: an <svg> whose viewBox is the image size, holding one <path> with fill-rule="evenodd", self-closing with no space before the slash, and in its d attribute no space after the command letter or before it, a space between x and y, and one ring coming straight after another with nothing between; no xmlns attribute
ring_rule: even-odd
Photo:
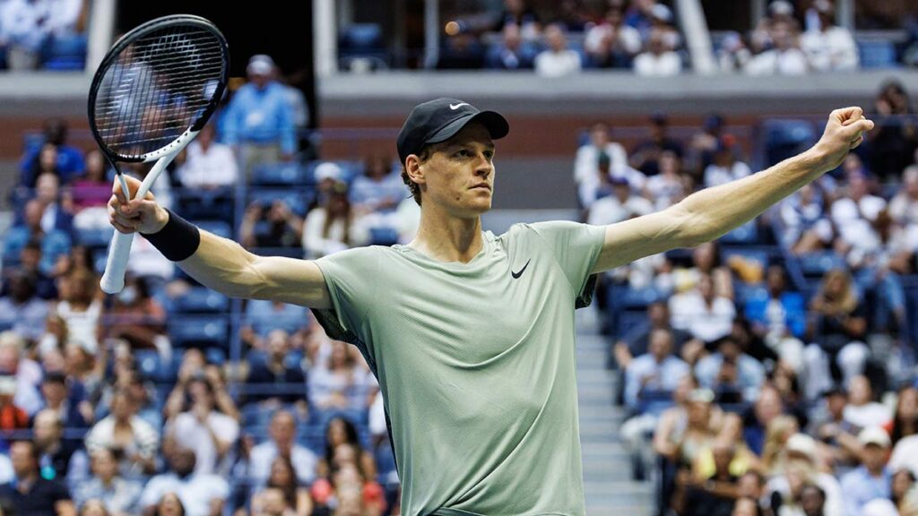
<svg viewBox="0 0 918 516"><path fill-rule="evenodd" d="M587 514L649 516L652 484L631 478L631 461L619 439L624 413L612 403L618 376L606 369L607 349L595 308L577 310L577 390Z"/></svg>

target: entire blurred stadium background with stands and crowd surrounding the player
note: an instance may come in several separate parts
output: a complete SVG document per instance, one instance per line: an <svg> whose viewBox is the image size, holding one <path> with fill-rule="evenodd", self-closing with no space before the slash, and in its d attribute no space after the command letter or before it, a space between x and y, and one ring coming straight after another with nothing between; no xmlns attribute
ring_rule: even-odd
<svg viewBox="0 0 918 516"><path fill-rule="evenodd" d="M142 239L127 288L98 289L89 83L173 13L224 32L231 82L153 192L262 254L410 241L395 139L438 96L509 118L495 233L666 208L864 107L837 170L602 275L578 310L587 507L918 514L915 2L0 0L3 514L399 513L375 379L307 309L218 295Z"/></svg>

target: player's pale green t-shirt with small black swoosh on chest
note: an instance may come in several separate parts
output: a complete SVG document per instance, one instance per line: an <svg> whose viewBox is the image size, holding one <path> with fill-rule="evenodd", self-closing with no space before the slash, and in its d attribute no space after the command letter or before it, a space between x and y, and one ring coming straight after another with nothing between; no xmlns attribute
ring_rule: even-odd
<svg viewBox="0 0 918 516"><path fill-rule="evenodd" d="M604 234L517 224L467 264L401 245L316 262L319 321L379 380L403 514L585 513L574 309Z"/></svg>

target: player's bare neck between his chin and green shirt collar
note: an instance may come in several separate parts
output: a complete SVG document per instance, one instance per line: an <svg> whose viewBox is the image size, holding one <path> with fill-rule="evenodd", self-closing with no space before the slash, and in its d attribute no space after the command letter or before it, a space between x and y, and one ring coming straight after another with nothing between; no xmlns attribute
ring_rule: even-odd
<svg viewBox="0 0 918 516"><path fill-rule="evenodd" d="M418 235L408 245L438 262L468 263L481 251L481 217L460 219L442 208L424 204Z"/></svg>

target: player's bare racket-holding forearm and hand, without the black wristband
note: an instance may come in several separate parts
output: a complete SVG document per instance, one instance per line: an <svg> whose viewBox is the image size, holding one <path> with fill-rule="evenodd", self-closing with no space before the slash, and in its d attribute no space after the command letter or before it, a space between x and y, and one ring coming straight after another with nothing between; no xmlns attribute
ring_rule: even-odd
<svg viewBox="0 0 918 516"><path fill-rule="evenodd" d="M140 182L127 177L132 192ZM122 233L156 233L166 225L169 212L147 194L126 202L118 183L112 188L108 216ZM271 299L308 308L330 308L328 287L319 266L279 256L258 256L235 241L201 230L194 254L176 262L202 285L231 297Z"/></svg>

